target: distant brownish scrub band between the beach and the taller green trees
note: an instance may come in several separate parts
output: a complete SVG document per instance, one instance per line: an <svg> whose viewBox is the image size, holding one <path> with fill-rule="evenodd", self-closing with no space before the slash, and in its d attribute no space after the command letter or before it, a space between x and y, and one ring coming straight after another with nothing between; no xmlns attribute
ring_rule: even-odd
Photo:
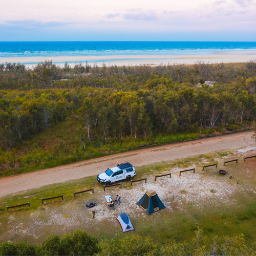
<svg viewBox="0 0 256 256"><path fill-rule="evenodd" d="M193 85L203 81L216 81L219 84L231 83L238 76L255 77L256 60L247 63L209 64L198 60L194 65L116 65L98 67L86 63L77 63L73 68L68 63L60 67L51 60L39 62L33 68L26 68L20 63L5 63L0 65L0 89L33 90L47 88L75 88L76 86L116 88L125 90L127 77L134 90L143 86L150 78L150 74L162 77L166 74L174 82L191 83Z"/></svg>

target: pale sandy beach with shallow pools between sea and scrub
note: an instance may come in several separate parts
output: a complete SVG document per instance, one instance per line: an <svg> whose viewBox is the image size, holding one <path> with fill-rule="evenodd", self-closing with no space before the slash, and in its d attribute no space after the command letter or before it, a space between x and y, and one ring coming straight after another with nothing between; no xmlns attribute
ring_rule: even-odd
<svg viewBox="0 0 256 256"><path fill-rule="evenodd" d="M93 65L94 61L100 67L104 61L109 65L130 65L136 66L140 64L149 64L152 66L173 63L194 64L197 60L205 63L229 63L229 62L247 62L256 58L256 51L232 51L232 52L214 52L211 55L110 55L110 56L48 56L48 57L11 57L0 58L0 63L20 62L25 63L27 67L35 66L40 61L52 60L57 65L63 66L65 61L72 61L71 67L75 63L88 61Z"/></svg>

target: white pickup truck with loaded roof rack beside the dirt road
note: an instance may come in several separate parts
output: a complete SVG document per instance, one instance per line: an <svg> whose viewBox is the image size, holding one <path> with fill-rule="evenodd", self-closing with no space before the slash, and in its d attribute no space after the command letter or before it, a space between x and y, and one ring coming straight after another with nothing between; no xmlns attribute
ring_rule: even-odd
<svg viewBox="0 0 256 256"><path fill-rule="evenodd" d="M129 162L117 164L116 167L108 168L104 173L97 176L99 183L105 183L106 186L121 180L130 181L136 175L135 168Z"/></svg>

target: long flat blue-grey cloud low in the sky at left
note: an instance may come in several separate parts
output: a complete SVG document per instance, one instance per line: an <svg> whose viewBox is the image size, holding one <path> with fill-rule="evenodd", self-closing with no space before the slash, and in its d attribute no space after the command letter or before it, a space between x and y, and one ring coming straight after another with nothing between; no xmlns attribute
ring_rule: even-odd
<svg viewBox="0 0 256 256"><path fill-rule="evenodd" d="M42 23L36 19L24 19L24 20L7 20L5 25L10 27L23 27L23 28L44 28L44 27L59 27L66 26L73 23L64 22L46 22Z"/></svg>

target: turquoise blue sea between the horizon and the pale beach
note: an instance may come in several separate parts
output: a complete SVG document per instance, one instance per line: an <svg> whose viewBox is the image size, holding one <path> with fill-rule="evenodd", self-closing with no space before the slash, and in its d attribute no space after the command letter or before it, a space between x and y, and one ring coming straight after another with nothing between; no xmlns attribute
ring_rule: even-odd
<svg viewBox="0 0 256 256"><path fill-rule="evenodd" d="M53 41L0 42L0 58L107 55L190 55L256 50L256 42ZM126 59L123 59L126 60ZM132 59L129 59L132 60ZM102 62L103 60L93 60ZM109 61L109 60L104 60ZM89 61L88 61L89 62Z"/></svg>

